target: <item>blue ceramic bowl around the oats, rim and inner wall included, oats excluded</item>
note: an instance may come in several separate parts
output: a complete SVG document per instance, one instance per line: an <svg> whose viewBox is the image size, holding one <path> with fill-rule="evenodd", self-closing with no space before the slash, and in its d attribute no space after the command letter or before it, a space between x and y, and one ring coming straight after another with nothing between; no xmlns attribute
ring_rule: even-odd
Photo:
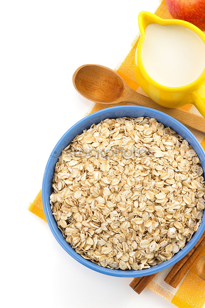
<svg viewBox="0 0 205 308"><path fill-rule="evenodd" d="M170 260L164 261L160 264L151 266L149 269L144 270L111 270L106 267L99 266L92 261L85 260L81 255L75 252L75 250L71 247L69 243L65 241L61 231L57 227L57 223L52 215L52 211L50 209L49 204L49 196L53 193L52 189L52 180L53 174L55 170L55 165L58 161L58 157L61 155L61 151L67 147L68 144L75 138L75 136L81 134L84 129L90 128L90 126L95 123L99 123L102 120L107 118L115 119L117 117L130 117L137 118L140 116L155 118L157 121L163 123L165 127L171 127L182 136L184 139L188 141L189 144L195 149L196 153L199 156L201 161L201 166L203 170L205 170L205 152L195 136L179 121L175 120L171 116L146 107L140 106L118 106L118 107L110 107L97 112L92 113L91 115L86 116L75 125L73 125L58 141L53 152L51 153L48 163L45 168L45 173L43 177L43 186L42 186L42 199L43 199L43 208L45 212L45 217L49 224L49 227L58 241L58 243L72 256L75 260L80 262L81 264L87 266L88 268L95 270L99 273L116 276L116 277L140 277L146 276L150 274L154 274L160 272L161 270L166 269L167 267L175 264L181 258L183 258L191 248L196 244L196 242L201 237L204 229L205 229L205 211L203 213L203 217L201 223L199 225L198 230L195 232L193 237L187 244L183 247L183 249L179 250Z"/></svg>

